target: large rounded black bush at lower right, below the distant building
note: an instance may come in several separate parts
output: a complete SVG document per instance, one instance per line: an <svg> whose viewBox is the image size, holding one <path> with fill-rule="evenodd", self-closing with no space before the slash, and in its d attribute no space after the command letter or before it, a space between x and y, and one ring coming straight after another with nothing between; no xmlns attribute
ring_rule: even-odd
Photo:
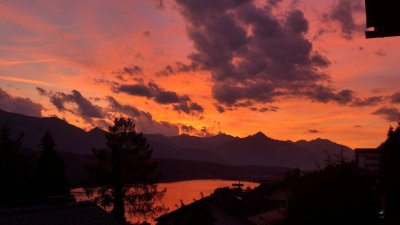
<svg viewBox="0 0 400 225"><path fill-rule="evenodd" d="M291 186L286 224L377 224L379 204L374 182L353 162L331 162L299 177Z"/></svg>

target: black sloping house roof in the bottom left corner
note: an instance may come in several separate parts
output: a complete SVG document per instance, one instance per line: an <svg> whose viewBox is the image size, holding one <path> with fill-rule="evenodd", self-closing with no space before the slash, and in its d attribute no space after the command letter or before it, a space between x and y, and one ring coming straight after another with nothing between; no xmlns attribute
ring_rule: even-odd
<svg viewBox="0 0 400 225"><path fill-rule="evenodd" d="M122 225L94 203L81 202L0 210L1 225Z"/></svg>

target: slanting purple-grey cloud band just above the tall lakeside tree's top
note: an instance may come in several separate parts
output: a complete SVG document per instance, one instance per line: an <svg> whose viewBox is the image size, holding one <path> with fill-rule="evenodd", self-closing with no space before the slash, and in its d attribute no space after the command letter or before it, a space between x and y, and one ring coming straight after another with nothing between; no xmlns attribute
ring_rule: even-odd
<svg viewBox="0 0 400 225"><path fill-rule="evenodd" d="M129 116L133 121L135 121L137 129L143 133L157 133L167 136L177 135L179 133L179 127L175 124L165 121L157 122L153 119L153 116L150 113L141 111L131 105L121 104L111 96L108 96L106 100L109 103L107 108L108 113L122 113Z"/></svg>

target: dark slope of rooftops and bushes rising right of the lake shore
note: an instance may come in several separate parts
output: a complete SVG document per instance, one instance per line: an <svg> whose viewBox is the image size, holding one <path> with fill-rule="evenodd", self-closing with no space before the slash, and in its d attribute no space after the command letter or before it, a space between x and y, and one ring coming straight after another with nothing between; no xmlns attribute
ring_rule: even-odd
<svg viewBox="0 0 400 225"><path fill-rule="evenodd" d="M219 188L161 216L157 224L378 225L379 194L364 172L338 159L313 172L293 170L253 190Z"/></svg>

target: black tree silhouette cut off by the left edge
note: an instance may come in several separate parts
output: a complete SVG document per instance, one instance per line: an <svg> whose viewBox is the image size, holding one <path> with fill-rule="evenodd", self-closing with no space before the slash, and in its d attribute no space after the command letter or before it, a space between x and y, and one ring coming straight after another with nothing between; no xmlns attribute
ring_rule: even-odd
<svg viewBox="0 0 400 225"><path fill-rule="evenodd" d="M0 208L17 207L32 203L32 190L29 188L32 157L24 154L21 139L11 138L11 129L0 128Z"/></svg>

